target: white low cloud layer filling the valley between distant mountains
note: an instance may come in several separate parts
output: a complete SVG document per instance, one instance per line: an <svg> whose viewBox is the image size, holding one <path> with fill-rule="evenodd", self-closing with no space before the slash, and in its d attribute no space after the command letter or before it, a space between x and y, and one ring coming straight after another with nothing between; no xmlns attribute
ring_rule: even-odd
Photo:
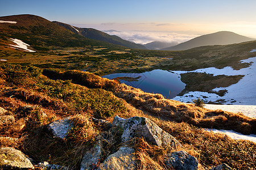
<svg viewBox="0 0 256 170"><path fill-rule="evenodd" d="M156 32L156 31L104 31L109 35L116 35L124 40L133 41L137 44L147 44L152 41L172 42L173 44L179 44L193 39L199 35L186 35L175 32Z"/></svg>

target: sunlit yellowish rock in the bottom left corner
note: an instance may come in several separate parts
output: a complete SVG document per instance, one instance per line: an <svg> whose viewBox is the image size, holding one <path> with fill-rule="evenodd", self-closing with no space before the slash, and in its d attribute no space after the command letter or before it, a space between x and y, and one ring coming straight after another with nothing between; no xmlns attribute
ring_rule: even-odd
<svg viewBox="0 0 256 170"><path fill-rule="evenodd" d="M12 147L0 148L0 167L10 169L34 168L22 152Z"/></svg>

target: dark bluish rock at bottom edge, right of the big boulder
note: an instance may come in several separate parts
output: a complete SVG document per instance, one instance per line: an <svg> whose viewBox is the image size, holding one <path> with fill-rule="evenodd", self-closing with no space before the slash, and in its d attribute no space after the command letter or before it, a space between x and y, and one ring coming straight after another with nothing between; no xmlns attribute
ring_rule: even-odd
<svg viewBox="0 0 256 170"><path fill-rule="evenodd" d="M199 163L194 156L189 155L185 151L176 151L171 154L167 154L167 158L164 160L169 168L177 170L194 170L199 169Z"/></svg>

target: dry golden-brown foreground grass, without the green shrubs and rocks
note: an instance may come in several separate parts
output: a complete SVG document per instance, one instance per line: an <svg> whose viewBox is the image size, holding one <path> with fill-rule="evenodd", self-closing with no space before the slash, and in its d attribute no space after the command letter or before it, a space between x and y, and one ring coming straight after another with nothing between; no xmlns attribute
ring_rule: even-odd
<svg viewBox="0 0 256 170"><path fill-rule="evenodd" d="M9 81L6 81L7 78L4 75L6 74L1 76L3 83L0 86L2 89L0 105L11 111L15 120L24 119L26 126L22 130L12 129L11 126L0 127L0 135L2 137L19 138L19 141L14 143L7 142L6 139L0 140L1 146L18 148L25 154L30 155L36 162L48 161L53 164L69 165L71 169L79 169L82 155L94 145L98 134L101 134L103 139L102 145L104 146L101 161L109 154L117 151L118 147L121 146L118 143L120 142L121 134L118 133L118 129L112 128L112 131L116 132L112 135L109 131L111 130L109 129L109 124L100 125L92 122L90 117L96 115L92 109L77 109L74 105L68 104L75 104L80 102L80 100L64 101L54 95L49 96L46 92L37 91L38 88L42 88L41 86L31 88L25 84L26 86L16 88L14 85L8 84ZM240 113L210 111L195 107L192 104L167 100L162 95L148 94L137 88L118 84L112 80L102 79L100 76L80 71L68 71L67 73L53 71L51 75L56 75L53 77L61 79L64 79L64 75L68 75L68 79L77 84L112 91L115 96L110 92L109 97L121 101L121 105L118 105L118 107L125 108L123 110L115 110L114 115L123 118L132 116L150 118L160 128L174 136L184 146L184 150L195 156L205 168L211 168L221 163L227 163L237 169L256 168L255 143L235 141L226 135L214 134L196 127L206 126L213 128L218 126L219 128L224 127L248 132L255 127L255 119L248 118ZM72 76L77 79L73 80ZM42 75L38 79L48 80L48 78ZM32 81L35 83L36 80L30 79L28 82ZM61 83L70 83L59 80L56 82L60 85ZM53 85L56 82L53 80L52 82L48 81L48 83ZM64 87L66 88L66 86ZM90 90L90 88L76 84L69 84L68 87L72 87L72 90L79 93ZM99 92L105 91L101 90ZM88 104L89 101L86 102L85 104ZM38 105L38 108L27 111L24 109L26 105ZM43 113L47 116L43 117ZM73 117L73 121L76 124L75 128L72 129L68 138L64 141L53 138L48 133L47 124L68 116ZM106 116L105 119L111 122L113 115ZM163 158L168 152L173 150L152 146L143 139L138 138L131 140L130 144L135 146L138 169L166 169L163 164Z"/></svg>

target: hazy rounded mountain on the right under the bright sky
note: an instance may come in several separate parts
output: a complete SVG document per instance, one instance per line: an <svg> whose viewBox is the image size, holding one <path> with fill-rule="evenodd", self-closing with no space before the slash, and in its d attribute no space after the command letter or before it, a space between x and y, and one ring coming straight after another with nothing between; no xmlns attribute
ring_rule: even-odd
<svg viewBox="0 0 256 170"><path fill-rule="evenodd" d="M245 41L254 41L255 39L251 39L249 37L238 35L234 32L229 31L220 31L216 33L210 33L208 35L203 35L196 37L195 39L182 42L175 46L170 46L168 48L163 48L161 50L187 50L199 46L206 45L228 45L228 44L236 44Z"/></svg>

